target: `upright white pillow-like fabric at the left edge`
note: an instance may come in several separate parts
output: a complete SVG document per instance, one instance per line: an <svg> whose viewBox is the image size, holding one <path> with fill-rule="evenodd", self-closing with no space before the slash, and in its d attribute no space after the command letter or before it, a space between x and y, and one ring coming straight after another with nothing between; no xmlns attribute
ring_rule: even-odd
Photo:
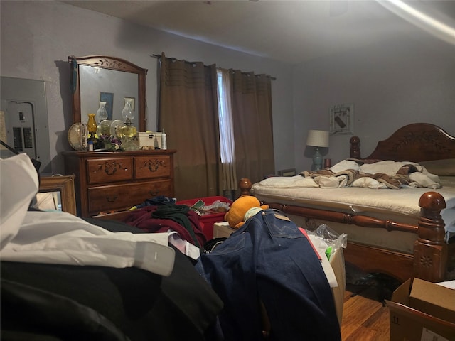
<svg viewBox="0 0 455 341"><path fill-rule="evenodd" d="M38 173L25 153L0 159L0 250L16 236L38 193Z"/></svg>

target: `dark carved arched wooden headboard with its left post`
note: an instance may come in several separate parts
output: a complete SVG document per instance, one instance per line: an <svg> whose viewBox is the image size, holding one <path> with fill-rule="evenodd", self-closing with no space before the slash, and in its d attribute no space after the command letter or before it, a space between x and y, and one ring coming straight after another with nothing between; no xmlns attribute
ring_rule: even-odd
<svg viewBox="0 0 455 341"><path fill-rule="evenodd" d="M353 136L350 144L350 157L360 158L360 139ZM455 158L455 137L434 124L408 124L379 141L375 151L362 158L412 162Z"/></svg>

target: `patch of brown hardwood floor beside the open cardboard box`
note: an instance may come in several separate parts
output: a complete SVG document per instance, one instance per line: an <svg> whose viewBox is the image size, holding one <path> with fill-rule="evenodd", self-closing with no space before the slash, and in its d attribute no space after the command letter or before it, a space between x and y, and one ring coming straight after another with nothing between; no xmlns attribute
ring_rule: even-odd
<svg viewBox="0 0 455 341"><path fill-rule="evenodd" d="M343 341L390 340L389 308L378 301L375 288L368 288L353 295L346 287L341 323Z"/></svg>

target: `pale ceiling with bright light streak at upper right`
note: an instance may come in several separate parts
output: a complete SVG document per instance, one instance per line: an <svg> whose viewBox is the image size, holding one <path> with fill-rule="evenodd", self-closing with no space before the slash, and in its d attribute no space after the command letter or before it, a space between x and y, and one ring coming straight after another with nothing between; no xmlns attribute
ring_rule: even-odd
<svg viewBox="0 0 455 341"><path fill-rule="evenodd" d="M418 22L415 15L397 9L400 0L63 2L292 64L422 29L455 45L455 1L452 0L407 1L405 6L431 16ZM439 27L429 23L437 23Z"/></svg>

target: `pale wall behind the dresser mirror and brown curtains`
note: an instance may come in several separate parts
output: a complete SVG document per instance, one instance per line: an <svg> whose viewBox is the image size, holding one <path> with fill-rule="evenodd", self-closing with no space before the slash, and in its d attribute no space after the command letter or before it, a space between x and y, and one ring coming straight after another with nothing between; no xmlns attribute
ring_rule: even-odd
<svg viewBox="0 0 455 341"><path fill-rule="evenodd" d="M275 163L294 167L291 65L200 43L58 1L0 1L1 76L44 80L53 173L63 173L61 151L70 150L73 124L68 55L110 55L149 70L147 128L156 129L156 58L199 60L218 67L266 73L272 83ZM172 139L172 136L168 136ZM247 176L247 174L245 174Z"/></svg>

